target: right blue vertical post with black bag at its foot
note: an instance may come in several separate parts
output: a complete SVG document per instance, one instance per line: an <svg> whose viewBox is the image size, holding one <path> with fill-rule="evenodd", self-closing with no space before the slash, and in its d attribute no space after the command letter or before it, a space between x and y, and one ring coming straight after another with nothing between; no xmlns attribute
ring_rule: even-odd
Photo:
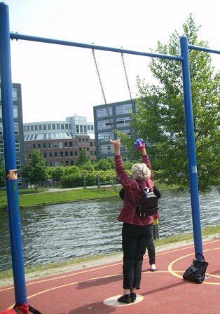
<svg viewBox="0 0 220 314"><path fill-rule="evenodd" d="M188 55L188 40L185 36L180 39L181 56L184 57L182 61L183 71L183 85L184 85L184 107L186 120L186 140L188 150L188 171L191 190L191 207L193 216L193 238L195 245L195 254L202 254L202 231L200 222L200 202L198 193L198 175L195 154L195 135L193 123L193 106L191 94L191 75ZM200 261L202 258L198 256Z"/></svg>

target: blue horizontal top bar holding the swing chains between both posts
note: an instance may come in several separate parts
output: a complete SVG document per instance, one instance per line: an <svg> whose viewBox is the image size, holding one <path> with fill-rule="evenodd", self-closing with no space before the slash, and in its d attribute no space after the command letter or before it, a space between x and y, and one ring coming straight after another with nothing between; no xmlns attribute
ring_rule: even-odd
<svg viewBox="0 0 220 314"><path fill-rule="evenodd" d="M18 33L11 33L10 34L11 39L21 39L25 41L38 41L40 43L55 43L57 45L63 45L63 46L74 46L79 48L90 48L95 50L106 50L106 51L112 51L114 53L127 53L130 55L144 55L145 57L159 57L162 59L168 59L168 60L175 60L175 61L182 61L183 57L180 57L178 55L163 55L160 53L142 53L140 51L134 51L134 50L125 50L125 49L118 49L118 48L111 48L111 47L104 47L104 46L95 46L90 45L87 43L75 43L72 41L61 41L57 39L47 39L43 37L36 37L36 36L29 36L29 35L22 35Z"/></svg>

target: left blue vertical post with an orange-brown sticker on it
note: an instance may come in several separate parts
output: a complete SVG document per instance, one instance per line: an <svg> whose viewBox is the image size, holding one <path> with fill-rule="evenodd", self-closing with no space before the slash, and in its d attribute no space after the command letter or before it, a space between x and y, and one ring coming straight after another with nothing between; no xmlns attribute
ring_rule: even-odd
<svg viewBox="0 0 220 314"><path fill-rule="evenodd" d="M11 236L15 301L16 303L27 303L13 122L9 13L8 6L2 2L0 3L0 72L8 219Z"/></svg>

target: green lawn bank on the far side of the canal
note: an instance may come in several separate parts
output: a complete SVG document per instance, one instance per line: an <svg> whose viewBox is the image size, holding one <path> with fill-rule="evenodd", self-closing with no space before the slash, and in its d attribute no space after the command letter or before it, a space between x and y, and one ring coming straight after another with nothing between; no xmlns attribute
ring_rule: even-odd
<svg viewBox="0 0 220 314"><path fill-rule="evenodd" d="M160 190L171 189L170 186L158 186ZM20 207L32 207L40 205L60 204L74 202L76 200L90 200L95 198L106 198L118 196L118 191L111 187L102 187L101 189L72 189L69 191L50 192L46 189L35 191L34 189L26 189L19 191ZM39 193L41 192L41 193ZM7 207L6 191L0 191L0 210Z"/></svg>

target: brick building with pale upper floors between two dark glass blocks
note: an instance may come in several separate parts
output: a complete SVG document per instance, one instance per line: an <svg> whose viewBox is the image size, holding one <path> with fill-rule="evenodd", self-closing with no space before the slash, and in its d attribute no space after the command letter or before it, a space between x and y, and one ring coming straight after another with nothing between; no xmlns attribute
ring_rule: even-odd
<svg viewBox="0 0 220 314"><path fill-rule="evenodd" d="M90 161L96 161L94 124L83 116L71 116L66 121L46 121L24 124L25 159L39 149L46 165L74 165L82 149Z"/></svg>

